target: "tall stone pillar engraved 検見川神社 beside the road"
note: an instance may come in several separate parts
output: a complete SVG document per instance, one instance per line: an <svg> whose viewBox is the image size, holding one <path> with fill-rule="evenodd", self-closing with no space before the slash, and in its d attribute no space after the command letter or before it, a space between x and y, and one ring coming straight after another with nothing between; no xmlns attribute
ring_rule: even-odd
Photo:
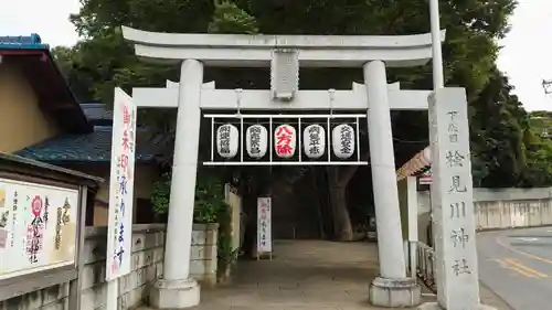
<svg viewBox="0 0 552 310"><path fill-rule="evenodd" d="M440 88L431 96L429 137L437 301L440 308L448 310L478 309L469 127L464 88Z"/></svg>

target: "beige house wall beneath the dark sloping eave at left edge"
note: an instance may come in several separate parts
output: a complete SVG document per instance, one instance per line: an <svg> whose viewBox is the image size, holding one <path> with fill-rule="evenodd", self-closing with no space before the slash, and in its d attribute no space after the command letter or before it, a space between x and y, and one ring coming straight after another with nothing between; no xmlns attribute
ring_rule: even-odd
<svg viewBox="0 0 552 310"><path fill-rule="evenodd" d="M0 151L11 153L59 132L55 122L39 108L25 77L13 66L0 64Z"/></svg>

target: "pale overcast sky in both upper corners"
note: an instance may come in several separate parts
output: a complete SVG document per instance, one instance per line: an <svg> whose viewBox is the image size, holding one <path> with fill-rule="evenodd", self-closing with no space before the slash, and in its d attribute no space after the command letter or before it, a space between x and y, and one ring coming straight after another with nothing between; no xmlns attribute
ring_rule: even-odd
<svg viewBox="0 0 552 310"><path fill-rule="evenodd" d="M552 110L552 95L545 95L542 79L552 79L552 0L520 0L510 20L508 38L501 42L499 67L516 86L516 94L529 110ZM72 45L77 40L68 14L78 11L78 0L17 0L0 11L0 35L39 33L52 46Z"/></svg>

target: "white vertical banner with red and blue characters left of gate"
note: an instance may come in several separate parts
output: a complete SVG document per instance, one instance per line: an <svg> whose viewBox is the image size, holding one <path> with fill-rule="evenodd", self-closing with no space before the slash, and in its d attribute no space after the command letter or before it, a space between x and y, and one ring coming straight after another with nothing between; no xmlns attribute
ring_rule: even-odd
<svg viewBox="0 0 552 310"><path fill-rule="evenodd" d="M131 266L136 117L132 98L115 88L106 253L108 310L118 309L118 278L130 272Z"/></svg>

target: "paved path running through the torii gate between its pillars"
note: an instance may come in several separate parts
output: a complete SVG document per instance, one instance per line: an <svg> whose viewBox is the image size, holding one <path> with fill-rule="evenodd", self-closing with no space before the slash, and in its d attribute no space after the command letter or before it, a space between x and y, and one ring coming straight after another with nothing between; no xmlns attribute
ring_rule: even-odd
<svg viewBox="0 0 552 310"><path fill-rule="evenodd" d="M368 303L378 248L368 243L286 240L270 260L240 261L233 284L202 290L199 310L380 310ZM425 297L434 301L434 297ZM510 310L482 288L484 303ZM146 308L145 308L146 309Z"/></svg>

